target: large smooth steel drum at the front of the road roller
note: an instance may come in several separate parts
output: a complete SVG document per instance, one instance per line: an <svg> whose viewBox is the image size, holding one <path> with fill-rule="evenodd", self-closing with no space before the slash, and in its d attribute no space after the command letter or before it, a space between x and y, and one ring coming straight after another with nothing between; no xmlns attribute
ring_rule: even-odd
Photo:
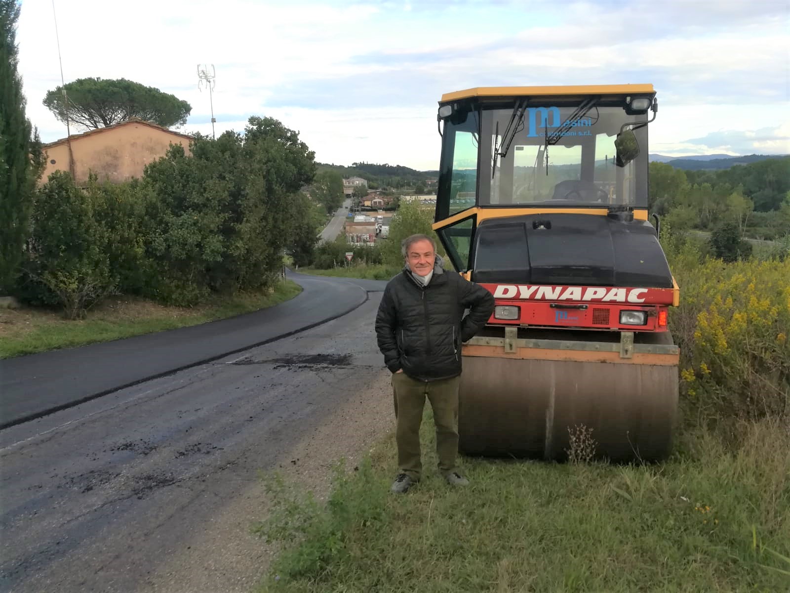
<svg viewBox="0 0 790 593"><path fill-rule="evenodd" d="M568 430L592 429L596 457L664 459L672 447L672 364L464 356L459 451L566 459Z"/></svg>

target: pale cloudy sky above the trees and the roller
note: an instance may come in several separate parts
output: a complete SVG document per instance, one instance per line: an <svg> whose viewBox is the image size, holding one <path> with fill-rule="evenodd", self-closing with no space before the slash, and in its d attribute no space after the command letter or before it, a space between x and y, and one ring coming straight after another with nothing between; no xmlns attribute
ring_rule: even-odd
<svg viewBox="0 0 790 593"><path fill-rule="evenodd" d="M54 6L53 6L54 4ZM477 86L651 83L649 152L790 153L790 0L22 0L27 114L81 77L128 78L192 105L211 134L198 63L216 71L216 134L279 119L316 161L438 168L443 93Z"/></svg>

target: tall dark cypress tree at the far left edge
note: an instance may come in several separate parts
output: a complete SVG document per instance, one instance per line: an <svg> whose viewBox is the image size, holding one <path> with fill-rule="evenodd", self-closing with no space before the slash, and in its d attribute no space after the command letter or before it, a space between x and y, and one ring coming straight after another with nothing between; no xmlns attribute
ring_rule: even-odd
<svg viewBox="0 0 790 593"><path fill-rule="evenodd" d="M25 117L17 71L17 0L0 0L0 295L13 291L19 275L41 153Z"/></svg>

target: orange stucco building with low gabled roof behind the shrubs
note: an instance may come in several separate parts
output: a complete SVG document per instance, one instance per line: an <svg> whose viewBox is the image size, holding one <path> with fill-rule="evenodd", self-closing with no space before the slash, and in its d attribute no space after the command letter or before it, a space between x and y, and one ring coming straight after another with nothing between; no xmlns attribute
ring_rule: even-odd
<svg viewBox="0 0 790 593"><path fill-rule="evenodd" d="M71 136L70 142L62 138L43 146L47 168L40 183L46 183L52 172L70 171L70 152L77 183L87 181L90 172L96 173L101 181L122 182L142 177L145 165L164 157L171 144L182 145L189 154L191 139L142 119L89 130Z"/></svg>

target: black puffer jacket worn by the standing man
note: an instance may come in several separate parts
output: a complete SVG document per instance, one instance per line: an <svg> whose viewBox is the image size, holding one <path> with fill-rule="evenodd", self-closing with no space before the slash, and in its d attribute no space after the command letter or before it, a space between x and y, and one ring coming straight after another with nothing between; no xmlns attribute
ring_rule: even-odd
<svg viewBox="0 0 790 593"><path fill-rule="evenodd" d="M470 308L464 317L465 309ZM494 296L438 263L427 286L408 266L389 281L378 306L376 337L391 372L431 381L461 374L461 342L491 317Z"/></svg>

